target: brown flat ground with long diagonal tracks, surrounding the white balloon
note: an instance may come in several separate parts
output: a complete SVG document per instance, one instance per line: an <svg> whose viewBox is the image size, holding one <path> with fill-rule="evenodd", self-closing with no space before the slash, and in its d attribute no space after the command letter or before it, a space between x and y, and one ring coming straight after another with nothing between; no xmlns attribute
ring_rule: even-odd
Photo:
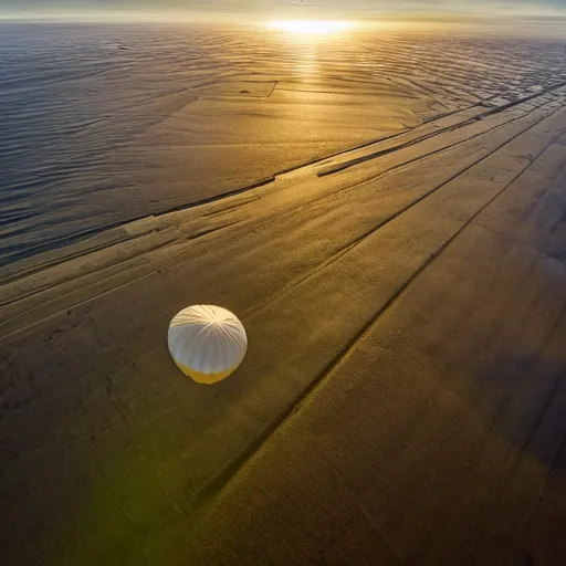
<svg viewBox="0 0 566 566"><path fill-rule="evenodd" d="M556 85L4 269L1 562L562 565L565 210Z"/></svg>

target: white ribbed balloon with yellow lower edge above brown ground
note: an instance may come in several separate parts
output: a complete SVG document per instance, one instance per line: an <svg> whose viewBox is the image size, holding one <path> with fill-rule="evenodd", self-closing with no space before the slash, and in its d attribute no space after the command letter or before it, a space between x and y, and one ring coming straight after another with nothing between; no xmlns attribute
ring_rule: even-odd
<svg viewBox="0 0 566 566"><path fill-rule="evenodd" d="M186 376L199 384L216 384L242 363L248 336L230 311L193 305L172 317L168 344L172 359Z"/></svg>

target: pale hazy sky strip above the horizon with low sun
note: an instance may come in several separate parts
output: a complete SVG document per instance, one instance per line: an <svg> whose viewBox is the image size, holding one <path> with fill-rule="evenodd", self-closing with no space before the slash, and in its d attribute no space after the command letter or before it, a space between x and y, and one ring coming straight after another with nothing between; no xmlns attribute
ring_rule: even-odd
<svg viewBox="0 0 566 566"><path fill-rule="evenodd" d="M566 0L0 0L0 15L224 14L252 18L538 18L566 15Z"/></svg>

